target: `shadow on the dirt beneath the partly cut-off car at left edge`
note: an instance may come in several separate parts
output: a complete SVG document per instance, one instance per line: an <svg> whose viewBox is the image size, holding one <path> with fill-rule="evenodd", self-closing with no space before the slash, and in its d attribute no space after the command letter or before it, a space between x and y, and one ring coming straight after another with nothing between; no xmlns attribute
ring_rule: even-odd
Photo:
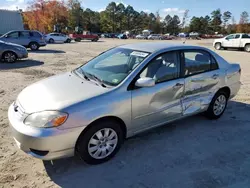
<svg viewBox="0 0 250 188"><path fill-rule="evenodd" d="M0 70L20 69L43 65L44 62L36 60L19 60L15 63L0 63Z"/></svg>

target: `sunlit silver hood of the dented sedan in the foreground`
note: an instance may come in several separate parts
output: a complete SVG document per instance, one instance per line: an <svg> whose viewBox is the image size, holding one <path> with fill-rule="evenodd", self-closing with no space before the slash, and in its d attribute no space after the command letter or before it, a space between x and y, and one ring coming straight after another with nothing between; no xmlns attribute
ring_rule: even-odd
<svg viewBox="0 0 250 188"><path fill-rule="evenodd" d="M107 91L107 88L68 72L26 87L18 95L17 100L25 113L29 114L44 110L60 110Z"/></svg>

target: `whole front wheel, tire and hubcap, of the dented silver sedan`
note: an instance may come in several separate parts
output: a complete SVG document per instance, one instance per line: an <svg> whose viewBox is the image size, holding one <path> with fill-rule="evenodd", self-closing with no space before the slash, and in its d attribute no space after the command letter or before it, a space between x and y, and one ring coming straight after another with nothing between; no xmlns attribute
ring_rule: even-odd
<svg viewBox="0 0 250 188"><path fill-rule="evenodd" d="M119 123L98 122L81 134L76 144L76 151L86 163L100 164L115 156L123 140Z"/></svg>

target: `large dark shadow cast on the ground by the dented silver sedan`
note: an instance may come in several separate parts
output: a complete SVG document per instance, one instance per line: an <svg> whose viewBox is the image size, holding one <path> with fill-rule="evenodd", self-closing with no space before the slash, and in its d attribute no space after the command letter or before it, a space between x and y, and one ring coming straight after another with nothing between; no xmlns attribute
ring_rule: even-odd
<svg viewBox="0 0 250 188"><path fill-rule="evenodd" d="M228 187L232 178L249 178L241 177L250 167L244 167L250 160L249 114L249 104L232 101L219 120L196 115L127 139L106 163L71 157L44 166L64 188Z"/></svg>

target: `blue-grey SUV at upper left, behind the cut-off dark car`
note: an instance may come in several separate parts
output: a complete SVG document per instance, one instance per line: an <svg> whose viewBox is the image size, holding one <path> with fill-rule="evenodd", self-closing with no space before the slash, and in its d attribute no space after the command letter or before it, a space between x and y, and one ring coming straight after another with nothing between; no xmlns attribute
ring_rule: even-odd
<svg viewBox="0 0 250 188"><path fill-rule="evenodd" d="M39 31L10 31L0 37L0 40L22 45L31 50L38 50L46 46L44 36Z"/></svg>

